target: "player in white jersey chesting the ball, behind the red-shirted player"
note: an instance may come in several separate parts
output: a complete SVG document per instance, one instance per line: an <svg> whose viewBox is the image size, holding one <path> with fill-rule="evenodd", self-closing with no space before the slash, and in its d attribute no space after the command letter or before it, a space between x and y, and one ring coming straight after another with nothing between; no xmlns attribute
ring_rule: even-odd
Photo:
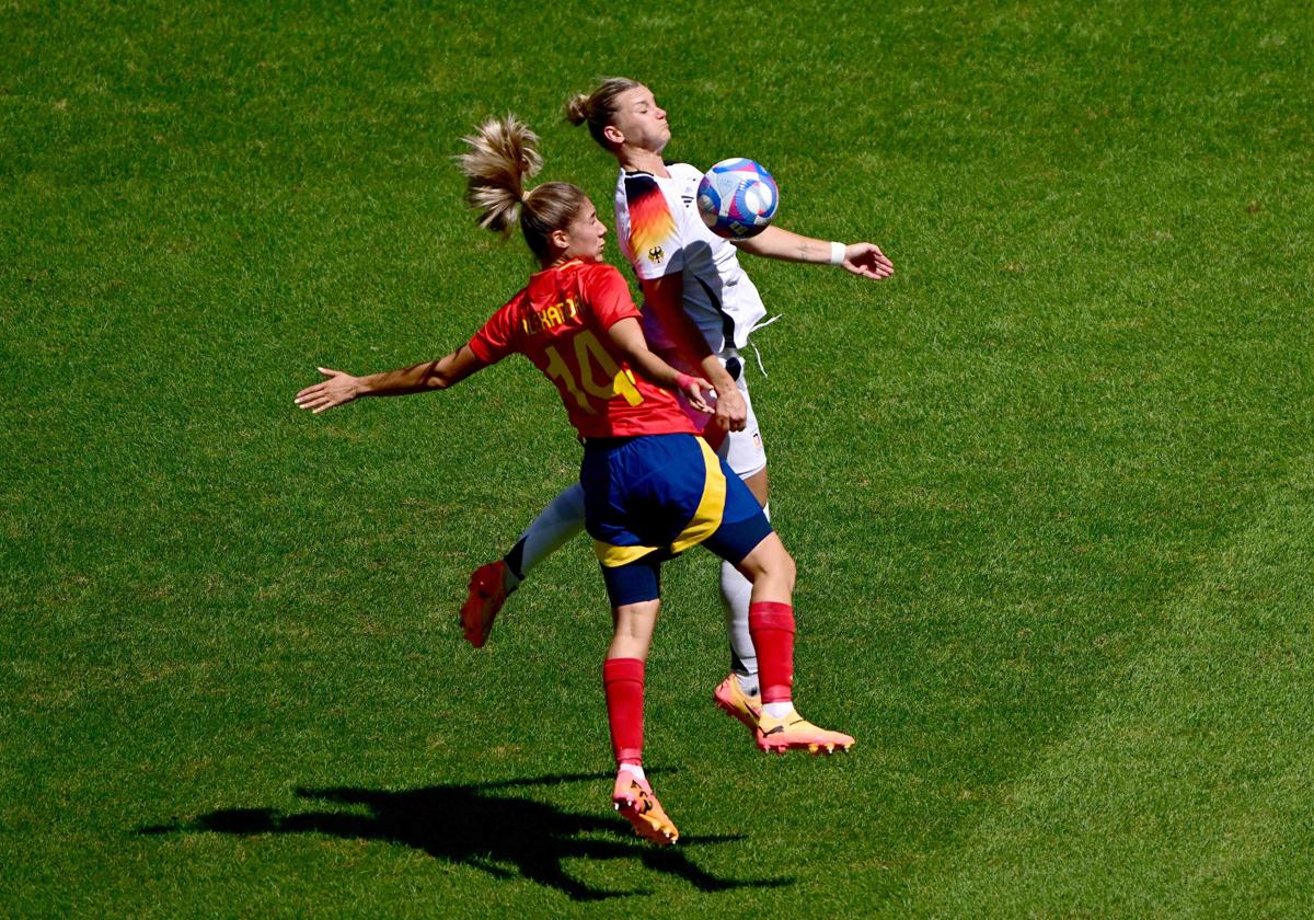
<svg viewBox="0 0 1314 920"><path fill-rule="evenodd" d="M670 125L641 83L604 80L593 93L572 99L566 112L572 124L589 125L589 133L620 167L616 237L643 287L649 346L674 367L702 373L716 388L715 418L699 417L692 407L687 411L706 426L704 436L767 509L766 452L740 355L766 308L740 265L738 252L836 264L872 280L892 275L894 265L874 243L825 242L778 226L733 242L712 234L694 204L703 171L662 160ZM719 360L707 361L710 355ZM715 373L717 365L720 375ZM583 497L577 484L544 509L502 560L474 570L461 623L476 648L487 639L507 594L582 528ZM761 704L757 652L748 626L750 585L735 566L723 564L720 593L732 673L715 689L714 699L756 733Z"/></svg>

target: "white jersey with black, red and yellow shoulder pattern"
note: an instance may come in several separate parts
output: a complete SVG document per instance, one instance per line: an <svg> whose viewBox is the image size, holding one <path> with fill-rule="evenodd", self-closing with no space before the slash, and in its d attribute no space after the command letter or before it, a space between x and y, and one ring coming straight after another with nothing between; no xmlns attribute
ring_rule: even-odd
<svg viewBox="0 0 1314 920"><path fill-rule="evenodd" d="M640 280L683 272L685 313L714 354L742 348L766 308L738 263L738 250L703 223L694 198L703 173L689 163L666 167L670 177L620 171L616 238ZM644 306L644 334L657 351L671 342Z"/></svg>

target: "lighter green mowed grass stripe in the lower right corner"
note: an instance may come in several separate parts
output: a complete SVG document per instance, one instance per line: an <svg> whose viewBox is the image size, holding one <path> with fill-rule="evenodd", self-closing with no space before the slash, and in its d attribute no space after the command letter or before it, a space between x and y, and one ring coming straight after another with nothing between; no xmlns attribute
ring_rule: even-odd
<svg viewBox="0 0 1314 920"><path fill-rule="evenodd" d="M1311 906L1314 456L1166 598L970 839L911 879L946 916L1294 916ZM1240 892L1263 892L1259 896Z"/></svg>

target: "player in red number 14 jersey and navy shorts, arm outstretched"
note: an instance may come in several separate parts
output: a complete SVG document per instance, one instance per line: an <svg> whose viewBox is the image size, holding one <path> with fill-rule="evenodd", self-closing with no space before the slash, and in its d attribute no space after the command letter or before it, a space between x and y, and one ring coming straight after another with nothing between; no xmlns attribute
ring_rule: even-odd
<svg viewBox="0 0 1314 920"><path fill-rule="evenodd" d="M585 442L585 527L615 623L603 661L616 760L612 802L639 836L670 844L678 831L643 770L644 662L661 606L664 560L702 543L752 582L762 750L829 753L848 749L853 739L817 728L794 708L794 560L674 396L710 411L703 393L711 385L648 350L624 279L599 262L606 227L587 196L566 183L524 188L541 166L528 127L509 116L465 139L466 197L481 212L481 225L506 234L518 221L541 271L452 354L364 377L321 368L326 380L301 390L296 402L318 414L361 396L445 389L511 354L524 355L556 385ZM715 356L706 365L724 375ZM742 418L729 423L742 425Z"/></svg>

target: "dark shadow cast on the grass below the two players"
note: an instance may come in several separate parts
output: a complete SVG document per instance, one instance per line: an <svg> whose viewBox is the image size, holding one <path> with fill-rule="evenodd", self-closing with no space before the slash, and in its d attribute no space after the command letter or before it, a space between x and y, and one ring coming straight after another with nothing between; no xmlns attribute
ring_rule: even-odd
<svg viewBox="0 0 1314 920"><path fill-rule="evenodd" d="M399 793L377 789L297 789L297 795L302 799L355 806L356 811L219 808L191 820L143 827L139 831L147 835L326 833L347 840L378 840L473 866L493 878L511 879L519 874L574 900L602 900L649 891L593 888L568 875L564 860L640 860L648 869L683 878L699 891L794 883L792 878L717 878L690 862L685 854L690 846L742 840L738 836L681 837L675 846L658 849L632 837L629 825L619 817L574 814L516 795L490 795L501 789L583 781L610 782L611 775L551 775L470 786L428 786ZM364 814L360 807L364 807Z"/></svg>

